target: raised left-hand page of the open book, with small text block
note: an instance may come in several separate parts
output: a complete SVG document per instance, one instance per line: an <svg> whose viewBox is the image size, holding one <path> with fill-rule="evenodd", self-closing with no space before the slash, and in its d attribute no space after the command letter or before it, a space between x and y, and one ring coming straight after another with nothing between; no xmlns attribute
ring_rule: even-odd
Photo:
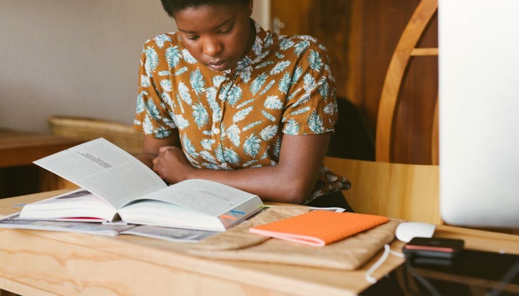
<svg viewBox="0 0 519 296"><path fill-rule="evenodd" d="M34 163L100 196L115 208L167 187L149 167L103 138Z"/></svg>

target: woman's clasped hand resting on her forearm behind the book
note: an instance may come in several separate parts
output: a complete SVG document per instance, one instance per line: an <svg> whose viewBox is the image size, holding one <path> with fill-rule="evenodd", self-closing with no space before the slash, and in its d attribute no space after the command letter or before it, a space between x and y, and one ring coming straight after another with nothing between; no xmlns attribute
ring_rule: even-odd
<svg viewBox="0 0 519 296"><path fill-rule="evenodd" d="M182 149L174 146L160 147L159 156L153 160L153 171L173 184L188 179L195 170Z"/></svg>

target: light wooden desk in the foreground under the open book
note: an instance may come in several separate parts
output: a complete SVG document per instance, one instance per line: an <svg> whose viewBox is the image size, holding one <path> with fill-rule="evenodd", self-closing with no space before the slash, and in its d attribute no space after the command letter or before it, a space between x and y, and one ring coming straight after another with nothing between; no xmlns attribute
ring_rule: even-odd
<svg viewBox="0 0 519 296"><path fill-rule="evenodd" d="M0 201L13 205L65 190ZM519 253L519 236L439 226L435 236L462 238L477 250ZM402 243L395 241L392 249ZM370 284L364 273L269 263L210 260L184 255L184 244L131 235L0 229L0 288L22 295L354 295ZM390 256L380 278L402 259Z"/></svg>

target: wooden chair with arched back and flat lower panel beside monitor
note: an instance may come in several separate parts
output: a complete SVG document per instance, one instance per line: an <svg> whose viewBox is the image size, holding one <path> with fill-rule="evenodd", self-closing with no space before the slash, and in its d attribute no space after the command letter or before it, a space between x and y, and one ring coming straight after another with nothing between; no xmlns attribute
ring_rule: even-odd
<svg viewBox="0 0 519 296"><path fill-rule="evenodd" d="M422 0L418 4L393 53L379 103L376 162L339 158L324 160L333 172L351 181L351 189L343 191L343 194L358 213L442 223L439 210L439 166L390 163L393 121L408 63L413 56L438 55L438 48L415 48L437 8L437 0ZM432 142L436 145L432 158L436 164L437 104L432 131Z"/></svg>

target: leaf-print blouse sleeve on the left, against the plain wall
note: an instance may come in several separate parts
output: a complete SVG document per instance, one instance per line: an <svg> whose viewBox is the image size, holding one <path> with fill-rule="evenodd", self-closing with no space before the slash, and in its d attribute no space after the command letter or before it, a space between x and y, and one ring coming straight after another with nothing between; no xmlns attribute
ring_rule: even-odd
<svg viewBox="0 0 519 296"><path fill-rule="evenodd" d="M173 121L174 114L168 107L171 104L171 81L169 75L161 76L163 65L157 49L153 43L144 45L139 67L139 95L133 128L145 135L155 138L165 138L171 135L176 128Z"/></svg>

